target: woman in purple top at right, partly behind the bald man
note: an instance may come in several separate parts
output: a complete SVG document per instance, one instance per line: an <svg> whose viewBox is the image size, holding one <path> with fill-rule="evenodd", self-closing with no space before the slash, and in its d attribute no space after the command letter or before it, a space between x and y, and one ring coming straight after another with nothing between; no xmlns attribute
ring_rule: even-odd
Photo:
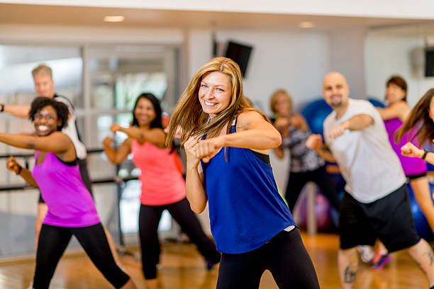
<svg viewBox="0 0 434 289"><path fill-rule="evenodd" d="M386 82L386 108L377 108L384 120L384 126L389 135L389 142L401 161L402 168L406 174L408 181L413 188L413 193L421 208L423 215L428 220L428 224L434 231L434 205L431 201L430 186L428 177L426 176L426 164L423 159L413 159L401 154L401 147L408 141L413 142L416 137L416 126L406 130L404 135L399 137L397 142L394 138L395 132L403 128L403 123L408 119L410 107L406 102L407 84L406 81L399 76L392 76ZM398 132L399 133L399 132ZM390 258L387 250L383 246L379 246L377 254L372 261L372 268L382 268Z"/></svg>

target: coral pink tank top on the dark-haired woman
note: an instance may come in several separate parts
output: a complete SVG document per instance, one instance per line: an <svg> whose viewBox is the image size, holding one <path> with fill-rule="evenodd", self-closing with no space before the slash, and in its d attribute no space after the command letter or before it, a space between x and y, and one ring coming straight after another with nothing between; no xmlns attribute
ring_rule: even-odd
<svg viewBox="0 0 434 289"><path fill-rule="evenodd" d="M160 149L151 142L140 145L133 139L133 163L141 174L143 205L167 205L185 198L185 181L177 166L176 152Z"/></svg>

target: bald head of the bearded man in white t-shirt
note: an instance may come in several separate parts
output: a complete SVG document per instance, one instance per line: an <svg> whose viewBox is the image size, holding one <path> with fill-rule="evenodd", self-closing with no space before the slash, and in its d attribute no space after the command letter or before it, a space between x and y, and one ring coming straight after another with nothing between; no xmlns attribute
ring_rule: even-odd
<svg viewBox="0 0 434 289"><path fill-rule="evenodd" d="M328 73L323 80L323 97L333 109L347 106L350 87L345 77L339 72Z"/></svg>

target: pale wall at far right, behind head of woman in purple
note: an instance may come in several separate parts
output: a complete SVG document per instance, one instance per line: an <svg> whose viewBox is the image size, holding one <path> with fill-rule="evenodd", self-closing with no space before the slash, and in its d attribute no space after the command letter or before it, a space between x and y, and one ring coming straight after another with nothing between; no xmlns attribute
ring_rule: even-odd
<svg viewBox="0 0 434 289"><path fill-rule="evenodd" d="M398 29L372 30L365 42L367 94L384 98L387 79L399 74L408 84L407 101L413 107L428 89L434 87L434 77L423 77L423 50L425 39L432 37Z"/></svg>

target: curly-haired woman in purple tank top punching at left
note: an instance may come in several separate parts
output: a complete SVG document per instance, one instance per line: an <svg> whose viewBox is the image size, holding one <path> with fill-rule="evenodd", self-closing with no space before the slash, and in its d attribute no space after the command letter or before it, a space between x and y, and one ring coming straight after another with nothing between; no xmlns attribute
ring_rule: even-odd
<svg viewBox="0 0 434 289"><path fill-rule="evenodd" d="M38 239L33 288L49 287L72 235L113 287L135 288L113 259L94 200L82 181L74 145L61 132L67 125L68 115L64 103L38 97L29 112L36 137L0 133L0 142L36 150L33 171L21 167L13 157L9 157L6 166L30 185L40 188L48 205Z"/></svg>

